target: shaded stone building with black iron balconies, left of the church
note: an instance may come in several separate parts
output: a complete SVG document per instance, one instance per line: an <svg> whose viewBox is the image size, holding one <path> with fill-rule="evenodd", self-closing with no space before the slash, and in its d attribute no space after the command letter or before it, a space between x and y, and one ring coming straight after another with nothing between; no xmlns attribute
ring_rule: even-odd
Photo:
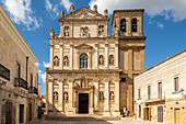
<svg viewBox="0 0 186 124"><path fill-rule="evenodd" d="M0 5L0 124L37 117L37 67L22 35Z"/></svg>

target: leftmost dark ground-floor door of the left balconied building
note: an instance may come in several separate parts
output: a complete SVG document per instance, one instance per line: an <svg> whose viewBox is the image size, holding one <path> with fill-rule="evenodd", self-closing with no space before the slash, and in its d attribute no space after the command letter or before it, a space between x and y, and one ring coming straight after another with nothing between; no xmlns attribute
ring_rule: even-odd
<svg viewBox="0 0 186 124"><path fill-rule="evenodd" d="M5 124L12 124L12 103L5 103Z"/></svg>

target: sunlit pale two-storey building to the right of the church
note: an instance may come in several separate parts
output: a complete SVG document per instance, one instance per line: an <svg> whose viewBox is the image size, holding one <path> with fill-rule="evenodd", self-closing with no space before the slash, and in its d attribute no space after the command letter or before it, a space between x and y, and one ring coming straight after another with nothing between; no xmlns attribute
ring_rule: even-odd
<svg viewBox="0 0 186 124"><path fill-rule="evenodd" d="M186 50L168 57L135 78L138 120L186 123Z"/></svg>

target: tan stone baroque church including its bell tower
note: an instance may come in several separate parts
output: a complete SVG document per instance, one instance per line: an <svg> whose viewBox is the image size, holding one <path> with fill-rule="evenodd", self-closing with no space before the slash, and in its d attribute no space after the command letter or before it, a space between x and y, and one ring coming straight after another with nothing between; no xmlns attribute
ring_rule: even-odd
<svg viewBox="0 0 186 124"><path fill-rule="evenodd" d="M65 15L60 33L50 29L46 68L46 113L132 115L133 77L144 70L143 9L108 12L85 7Z"/></svg>

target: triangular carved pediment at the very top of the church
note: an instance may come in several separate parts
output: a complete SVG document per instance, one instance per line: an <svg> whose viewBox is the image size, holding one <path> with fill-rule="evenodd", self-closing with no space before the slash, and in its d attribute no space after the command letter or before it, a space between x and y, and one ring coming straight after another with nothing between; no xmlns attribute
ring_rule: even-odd
<svg viewBox="0 0 186 124"><path fill-rule="evenodd" d="M61 18L60 20L109 20L108 18L94 12L85 7L74 11L73 13L70 13L66 15L65 18Z"/></svg>

